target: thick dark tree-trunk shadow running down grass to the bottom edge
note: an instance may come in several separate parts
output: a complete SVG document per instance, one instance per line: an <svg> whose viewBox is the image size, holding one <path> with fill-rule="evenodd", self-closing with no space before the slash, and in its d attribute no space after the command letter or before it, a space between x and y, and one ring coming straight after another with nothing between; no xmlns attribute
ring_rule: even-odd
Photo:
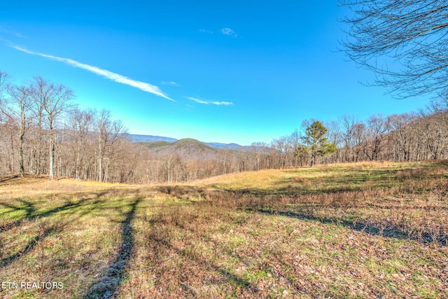
<svg viewBox="0 0 448 299"><path fill-rule="evenodd" d="M90 285L87 291L85 299L91 298L113 298L114 293L120 286L121 281L126 277L126 267L130 262L131 253L134 249L134 232L132 229L132 220L137 209L137 205L141 202L141 198L137 198L131 204L130 211L127 212L125 220L121 223L121 237L122 242L120 245L120 251L109 265L106 270L106 274L94 281Z"/></svg>

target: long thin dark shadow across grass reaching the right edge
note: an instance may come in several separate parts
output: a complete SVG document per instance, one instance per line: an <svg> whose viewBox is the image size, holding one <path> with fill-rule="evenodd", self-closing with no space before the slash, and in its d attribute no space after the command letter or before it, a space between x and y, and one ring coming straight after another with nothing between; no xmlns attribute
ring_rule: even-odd
<svg viewBox="0 0 448 299"><path fill-rule="evenodd" d="M412 234L403 230L402 228L393 226L387 226L386 228L381 228L377 225L373 225L370 223L354 222L348 220L341 220L337 218L316 217L308 215L306 213L295 213L292 211L278 211L273 209L253 209L253 208L247 208L246 211L256 211L261 214L279 215L290 218L318 221L323 224L344 225L347 228L356 230L358 232L365 232L369 235L377 235L381 237L394 238L394 239L414 239L423 244L433 243L439 246L446 246L448 242L447 234L434 236L434 234L427 231L419 232L419 234L416 234L414 232Z"/></svg>

